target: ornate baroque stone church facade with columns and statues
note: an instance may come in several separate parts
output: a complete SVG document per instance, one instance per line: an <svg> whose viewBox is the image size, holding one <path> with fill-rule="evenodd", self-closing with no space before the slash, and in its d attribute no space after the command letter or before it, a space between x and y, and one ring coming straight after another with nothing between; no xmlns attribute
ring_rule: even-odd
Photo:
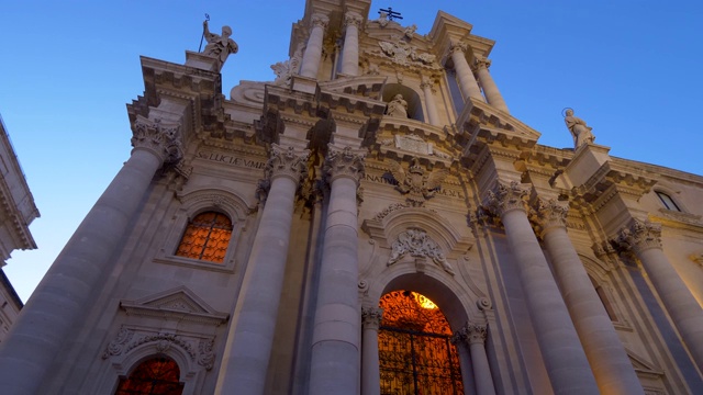
<svg viewBox="0 0 703 395"><path fill-rule="evenodd" d="M134 150L0 393L700 393L703 177L613 158L571 112L576 149L538 144L491 40L369 5L306 1L276 81L230 99L226 30L142 58Z"/></svg>

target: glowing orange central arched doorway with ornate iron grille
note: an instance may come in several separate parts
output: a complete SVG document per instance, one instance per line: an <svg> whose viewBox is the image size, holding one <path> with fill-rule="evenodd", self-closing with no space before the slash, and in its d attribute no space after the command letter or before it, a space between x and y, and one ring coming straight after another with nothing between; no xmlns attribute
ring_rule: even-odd
<svg viewBox="0 0 703 395"><path fill-rule="evenodd" d="M379 302L382 395L464 394L459 358L442 311L424 295L393 291Z"/></svg>

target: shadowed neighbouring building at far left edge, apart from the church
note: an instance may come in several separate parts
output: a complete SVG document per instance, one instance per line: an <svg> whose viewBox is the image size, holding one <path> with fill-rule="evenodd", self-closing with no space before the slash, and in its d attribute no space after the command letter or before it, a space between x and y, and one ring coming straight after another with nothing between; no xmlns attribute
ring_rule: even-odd
<svg viewBox="0 0 703 395"><path fill-rule="evenodd" d="M15 249L34 249L30 224L40 216L26 184L10 135L0 116L0 268L7 264ZM14 323L22 300L0 269L0 342Z"/></svg>

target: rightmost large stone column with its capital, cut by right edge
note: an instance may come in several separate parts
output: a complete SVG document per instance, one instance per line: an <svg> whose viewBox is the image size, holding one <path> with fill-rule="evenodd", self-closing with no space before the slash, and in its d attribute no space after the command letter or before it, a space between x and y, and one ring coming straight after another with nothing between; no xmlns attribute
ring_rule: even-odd
<svg viewBox="0 0 703 395"><path fill-rule="evenodd" d="M620 232L617 241L641 261L695 364L703 371L703 308L663 255L661 225L635 219Z"/></svg>

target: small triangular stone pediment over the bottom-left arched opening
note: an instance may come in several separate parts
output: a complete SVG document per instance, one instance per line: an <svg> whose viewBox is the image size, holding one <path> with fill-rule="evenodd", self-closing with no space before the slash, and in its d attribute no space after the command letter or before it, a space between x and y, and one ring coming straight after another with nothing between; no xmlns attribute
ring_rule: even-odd
<svg viewBox="0 0 703 395"><path fill-rule="evenodd" d="M186 286L167 290L136 301L121 301L127 315L142 315L166 319L185 319L220 325L230 317L212 308Z"/></svg>

